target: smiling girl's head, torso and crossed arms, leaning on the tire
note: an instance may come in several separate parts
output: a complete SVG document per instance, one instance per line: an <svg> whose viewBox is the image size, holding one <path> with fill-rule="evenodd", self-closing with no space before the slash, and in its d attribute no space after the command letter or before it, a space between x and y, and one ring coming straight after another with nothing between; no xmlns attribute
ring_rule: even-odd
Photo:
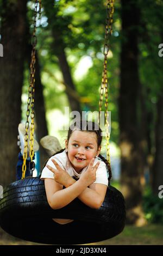
<svg viewBox="0 0 163 256"><path fill-rule="evenodd" d="M47 200L52 209L63 208L77 197L91 208L101 207L108 186L107 169L109 180L111 178L109 163L99 154L101 133L99 126L90 121L70 126L65 149L54 154L45 164L41 179L45 179ZM53 220L59 224L73 221Z"/></svg>

